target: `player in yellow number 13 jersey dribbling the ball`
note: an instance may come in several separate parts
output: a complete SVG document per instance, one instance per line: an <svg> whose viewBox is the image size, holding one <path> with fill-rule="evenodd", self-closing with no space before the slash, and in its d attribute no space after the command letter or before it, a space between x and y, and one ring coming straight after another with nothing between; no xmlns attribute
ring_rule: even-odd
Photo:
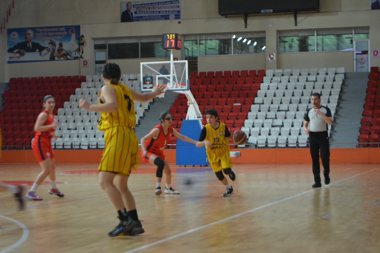
<svg viewBox="0 0 380 253"><path fill-rule="evenodd" d="M232 181L235 180L235 173L231 169L230 147L228 146L228 139L232 139L232 136L225 123L217 119L217 111L214 109L206 111L207 124L202 129L201 134L199 134L196 147L206 146L207 159L211 164L211 168L217 178L227 188L226 192L223 193L223 197L228 197L234 193L234 190L224 177L223 172L228 175Z"/></svg>

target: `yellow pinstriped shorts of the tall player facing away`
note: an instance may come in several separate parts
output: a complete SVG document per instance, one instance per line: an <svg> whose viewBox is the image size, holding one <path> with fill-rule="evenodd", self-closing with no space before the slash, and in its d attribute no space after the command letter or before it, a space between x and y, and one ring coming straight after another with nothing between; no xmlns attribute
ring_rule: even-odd
<svg viewBox="0 0 380 253"><path fill-rule="evenodd" d="M129 176L139 162L139 143L135 131L127 126L106 129L105 148L98 171Z"/></svg>

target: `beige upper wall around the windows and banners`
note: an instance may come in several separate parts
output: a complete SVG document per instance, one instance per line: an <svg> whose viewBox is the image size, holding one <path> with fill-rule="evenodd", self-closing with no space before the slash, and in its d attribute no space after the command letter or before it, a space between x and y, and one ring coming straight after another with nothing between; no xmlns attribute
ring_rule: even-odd
<svg viewBox="0 0 380 253"><path fill-rule="evenodd" d="M0 7L6 1L0 1ZM11 1L8 1L11 2ZM62 2L51 0L18 0L12 9L7 27L36 27L50 25L81 25L87 38L84 58L90 60L88 68L80 62L6 63L6 31L0 35L0 82L9 77L58 76L93 74L93 38L161 35L176 32L182 35L226 32L266 32L267 53L277 52L277 34L280 30L318 29L336 27L369 27L370 49L380 49L380 11L371 11L368 0L320 0L320 13L298 14L294 25L292 14L249 16L247 28L241 16L218 15L217 0L182 0L182 20L120 23L120 1L65 0L70 11L62 11ZM8 4L7 4L8 5ZM6 7L6 6L5 6ZM4 9L4 8L1 8ZM350 55L351 54L351 55ZM175 57L180 57L176 52ZM158 59L112 60L121 65L123 73L138 73L139 63ZM162 59L168 60L168 59ZM199 57L199 71L226 69L275 69L303 67L339 67L353 70L353 57L349 52L321 52L277 54L277 61L266 62L266 55L235 55ZM300 64L301 63L301 64ZM380 59L370 59L371 66L380 66Z"/></svg>

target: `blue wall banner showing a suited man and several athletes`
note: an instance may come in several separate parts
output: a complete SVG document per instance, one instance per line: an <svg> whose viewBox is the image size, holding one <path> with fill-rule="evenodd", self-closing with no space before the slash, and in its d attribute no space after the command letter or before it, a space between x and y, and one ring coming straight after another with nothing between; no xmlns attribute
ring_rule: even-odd
<svg viewBox="0 0 380 253"><path fill-rule="evenodd" d="M8 63L83 58L86 38L79 25L8 28Z"/></svg>

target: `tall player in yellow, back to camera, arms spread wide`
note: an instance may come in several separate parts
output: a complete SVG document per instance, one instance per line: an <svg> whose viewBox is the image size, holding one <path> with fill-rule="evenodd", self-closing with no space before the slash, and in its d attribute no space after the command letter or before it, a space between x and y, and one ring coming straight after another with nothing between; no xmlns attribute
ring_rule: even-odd
<svg viewBox="0 0 380 253"><path fill-rule="evenodd" d="M128 189L128 178L137 168L139 147L135 131L135 107L133 100L149 101L161 94L163 87L152 92L136 93L120 83L121 71L116 63L107 63L102 78L106 85L98 94L98 104L81 99L79 107L101 112L98 129L105 131L105 149L99 164L99 182L119 214L120 223L109 236L133 235L144 232L138 219L135 199Z"/></svg>

